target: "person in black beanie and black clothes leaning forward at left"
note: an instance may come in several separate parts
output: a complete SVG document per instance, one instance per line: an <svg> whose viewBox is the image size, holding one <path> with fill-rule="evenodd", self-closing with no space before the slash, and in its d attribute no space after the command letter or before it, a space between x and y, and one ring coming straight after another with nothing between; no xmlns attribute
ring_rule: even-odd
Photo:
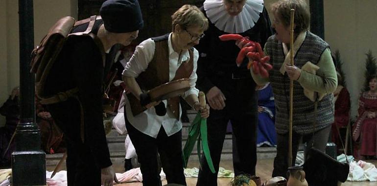
<svg viewBox="0 0 377 186"><path fill-rule="evenodd" d="M112 46L127 46L136 39L143 21L138 0L107 0L100 15L94 25L87 22L73 28L71 33L93 26L91 37L69 37L45 83L44 92L51 96L48 100L58 98L45 104L65 133L68 186L113 186L114 180L118 182L102 118L104 69L114 60L103 57Z"/></svg>

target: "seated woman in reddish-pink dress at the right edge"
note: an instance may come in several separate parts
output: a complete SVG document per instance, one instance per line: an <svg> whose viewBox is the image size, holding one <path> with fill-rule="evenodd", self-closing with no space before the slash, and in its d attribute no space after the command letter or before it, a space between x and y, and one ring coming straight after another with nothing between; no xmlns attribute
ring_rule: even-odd
<svg viewBox="0 0 377 186"><path fill-rule="evenodd" d="M371 159L377 155L377 75L368 77L368 90L359 100L359 116L353 125L353 140L357 141L354 149L355 158Z"/></svg>

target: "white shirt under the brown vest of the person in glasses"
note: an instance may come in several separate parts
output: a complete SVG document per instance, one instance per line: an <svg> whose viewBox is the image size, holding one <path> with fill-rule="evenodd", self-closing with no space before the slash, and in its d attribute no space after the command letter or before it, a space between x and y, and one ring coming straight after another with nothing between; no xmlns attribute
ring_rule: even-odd
<svg viewBox="0 0 377 186"><path fill-rule="evenodd" d="M175 52L171 45L171 33L169 34L167 42L169 48L169 81L171 81L175 76L175 72L182 64L182 61L189 60L190 56L188 54L188 50L183 50L181 52L181 57L179 58L179 53ZM148 68L148 64L153 59L155 47L155 42L150 38L143 41L139 46L136 46L135 52L131 59L127 62L122 74L124 76L137 78L141 72ZM199 93L199 90L195 88L195 82L197 79L196 68L199 53L195 48L193 53L193 70L189 77L190 89L186 91L184 95L182 95L183 98L186 98L189 94L198 95ZM166 106L166 100L163 102ZM154 107L145 110L137 116L133 116L127 97L125 97L125 105L128 121L132 124L132 126L148 136L157 138L161 125L164 127L167 136L171 136L182 129L181 120L177 120L175 118L169 107L166 109L165 116L157 116ZM181 117L181 106L179 107L179 113L179 117Z"/></svg>

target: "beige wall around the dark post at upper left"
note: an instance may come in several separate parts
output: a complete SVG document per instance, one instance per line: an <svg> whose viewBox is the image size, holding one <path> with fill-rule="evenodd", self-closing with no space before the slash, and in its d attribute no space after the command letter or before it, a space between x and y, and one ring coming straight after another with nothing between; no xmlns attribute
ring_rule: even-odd
<svg viewBox="0 0 377 186"><path fill-rule="evenodd" d="M34 0L34 42L38 45L59 18L77 18L77 0ZM18 0L0 0L0 104L19 79ZM5 118L0 116L0 125Z"/></svg>

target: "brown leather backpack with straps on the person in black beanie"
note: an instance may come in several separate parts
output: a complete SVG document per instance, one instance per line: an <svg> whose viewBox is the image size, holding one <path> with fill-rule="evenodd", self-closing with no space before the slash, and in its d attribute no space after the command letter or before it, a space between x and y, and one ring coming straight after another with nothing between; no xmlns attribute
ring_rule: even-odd
<svg viewBox="0 0 377 186"><path fill-rule="evenodd" d="M101 19L100 16L92 16L88 19L75 21L72 17L64 17L57 21L48 31L47 35L42 39L39 46L35 47L31 53L31 73L35 73L35 86L36 95L41 99L41 104L53 104L67 100L71 96L75 96L78 93L78 89L74 88L67 90L66 92L57 93L56 95L46 95L45 83L48 77L49 71L57 57L61 52L64 43L71 36L90 36L97 44L99 38L92 33L95 20ZM71 33L72 29L78 25L88 23L89 25L84 32ZM102 54L103 61L105 60L105 54Z"/></svg>

